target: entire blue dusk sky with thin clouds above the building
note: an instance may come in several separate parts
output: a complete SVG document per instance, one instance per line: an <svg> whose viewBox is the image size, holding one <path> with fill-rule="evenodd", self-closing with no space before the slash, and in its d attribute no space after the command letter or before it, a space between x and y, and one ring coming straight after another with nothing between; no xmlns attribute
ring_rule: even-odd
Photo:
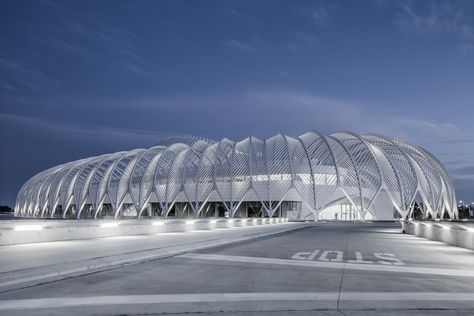
<svg viewBox="0 0 474 316"><path fill-rule="evenodd" d="M474 1L0 2L0 204L174 134L400 136L474 200Z"/></svg>

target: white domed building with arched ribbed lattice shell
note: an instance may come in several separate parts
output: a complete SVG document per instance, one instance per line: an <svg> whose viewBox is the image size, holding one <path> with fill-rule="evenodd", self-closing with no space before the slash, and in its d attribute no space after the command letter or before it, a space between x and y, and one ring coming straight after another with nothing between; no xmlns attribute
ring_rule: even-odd
<svg viewBox="0 0 474 316"><path fill-rule="evenodd" d="M452 181L428 151L377 134L308 132L234 142L175 136L65 163L20 189L15 216L97 219L457 218Z"/></svg>

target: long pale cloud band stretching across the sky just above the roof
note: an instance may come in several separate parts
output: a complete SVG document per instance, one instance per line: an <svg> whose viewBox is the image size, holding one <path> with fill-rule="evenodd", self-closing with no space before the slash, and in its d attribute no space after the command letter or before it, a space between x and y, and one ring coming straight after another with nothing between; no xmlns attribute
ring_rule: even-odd
<svg viewBox="0 0 474 316"><path fill-rule="evenodd" d="M287 75L283 72L281 75ZM373 110L374 104L341 100L312 93L291 90L246 90L214 95L178 95L170 97L54 97L25 100L31 108L41 105L28 115L47 118L49 121L89 122L91 125L115 126L116 115L129 120L130 129L153 130L159 122L160 130L195 133L197 122L217 119L226 125L211 124L203 128L207 137L227 136L234 132L245 137L242 131L268 135L284 132L296 135L308 129L331 132L351 129L358 132L379 132L405 137L417 142L430 142L437 147L462 146L474 141L474 131L450 122L439 122L412 115ZM67 104L68 112L58 113L58 105ZM9 108L10 113L16 107ZM35 114L36 113L36 114ZM90 113L95 113L91 116ZM271 113L271 115L269 115ZM47 116L45 116L47 115ZM231 121L227 119L231 117ZM182 125L176 125L179 119ZM263 124L271 122L272 124ZM250 130L246 128L252 128ZM187 129L183 131L183 128ZM460 135L463 135L462 138Z"/></svg>

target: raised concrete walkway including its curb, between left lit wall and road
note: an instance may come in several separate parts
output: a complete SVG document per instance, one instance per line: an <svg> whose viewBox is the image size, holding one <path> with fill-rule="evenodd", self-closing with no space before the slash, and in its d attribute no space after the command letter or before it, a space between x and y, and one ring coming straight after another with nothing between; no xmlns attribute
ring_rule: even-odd
<svg viewBox="0 0 474 316"><path fill-rule="evenodd" d="M0 292L297 229L285 223L0 247Z"/></svg>

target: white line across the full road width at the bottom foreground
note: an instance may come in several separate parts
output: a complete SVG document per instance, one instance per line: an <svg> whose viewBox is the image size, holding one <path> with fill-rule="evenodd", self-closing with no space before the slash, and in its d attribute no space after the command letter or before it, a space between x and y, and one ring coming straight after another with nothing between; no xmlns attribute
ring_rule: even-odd
<svg viewBox="0 0 474 316"><path fill-rule="evenodd" d="M131 304L258 301L474 301L474 293L453 292L264 292L57 297L0 301L0 310Z"/></svg>

